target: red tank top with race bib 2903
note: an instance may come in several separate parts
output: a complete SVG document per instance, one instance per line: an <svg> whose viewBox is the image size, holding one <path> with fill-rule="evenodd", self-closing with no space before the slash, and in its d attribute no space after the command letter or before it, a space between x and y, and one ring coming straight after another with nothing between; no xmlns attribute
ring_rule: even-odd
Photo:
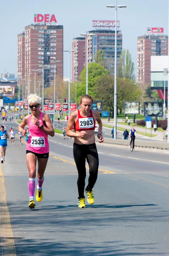
<svg viewBox="0 0 169 256"><path fill-rule="evenodd" d="M90 109L90 116L84 117L81 116L80 111L78 109L78 119L74 123L75 131L83 131L83 130L95 130L96 121L93 117L92 110Z"/></svg>

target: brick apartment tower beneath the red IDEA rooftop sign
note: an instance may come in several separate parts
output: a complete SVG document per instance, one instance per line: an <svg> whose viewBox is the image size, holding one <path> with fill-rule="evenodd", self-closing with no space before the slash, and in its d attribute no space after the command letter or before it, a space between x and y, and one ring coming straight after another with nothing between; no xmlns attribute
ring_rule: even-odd
<svg viewBox="0 0 169 256"><path fill-rule="evenodd" d="M56 77L63 79L63 26L54 24L31 24L25 26L25 32L18 35L18 76L28 80L36 78L42 80L42 65L44 67L44 85L49 87L54 80L54 59L56 63ZM37 81L36 80L36 81Z"/></svg>

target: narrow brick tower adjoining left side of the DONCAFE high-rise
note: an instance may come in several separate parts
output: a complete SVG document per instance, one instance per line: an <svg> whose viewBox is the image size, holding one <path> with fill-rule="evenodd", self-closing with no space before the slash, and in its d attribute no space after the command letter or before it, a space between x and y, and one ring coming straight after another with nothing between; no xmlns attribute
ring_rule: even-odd
<svg viewBox="0 0 169 256"><path fill-rule="evenodd" d="M85 67L85 37L73 38L72 49L72 81L77 81Z"/></svg>

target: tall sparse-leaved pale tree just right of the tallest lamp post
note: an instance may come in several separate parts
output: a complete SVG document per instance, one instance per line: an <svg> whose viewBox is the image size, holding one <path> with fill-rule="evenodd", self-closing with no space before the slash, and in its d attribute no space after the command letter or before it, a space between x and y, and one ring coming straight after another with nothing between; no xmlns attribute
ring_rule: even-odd
<svg viewBox="0 0 169 256"><path fill-rule="evenodd" d="M119 78L126 78L133 81L135 80L134 63L132 62L132 57L128 49L123 49L121 52L121 58L118 63L117 76Z"/></svg>

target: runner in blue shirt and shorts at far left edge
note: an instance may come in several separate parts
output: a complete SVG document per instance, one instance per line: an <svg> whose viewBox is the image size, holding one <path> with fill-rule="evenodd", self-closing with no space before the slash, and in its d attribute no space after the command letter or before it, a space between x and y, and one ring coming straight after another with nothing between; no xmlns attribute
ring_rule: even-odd
<svg viewBox="0 0 169 256"><path fill-rule="evenodd" d="M5 162L5 154L6 154L6 147L7 147L7 139L9 138L8 132L4 130L4 126L1 125L0 127L0 157L1 163Z"/></svg>

